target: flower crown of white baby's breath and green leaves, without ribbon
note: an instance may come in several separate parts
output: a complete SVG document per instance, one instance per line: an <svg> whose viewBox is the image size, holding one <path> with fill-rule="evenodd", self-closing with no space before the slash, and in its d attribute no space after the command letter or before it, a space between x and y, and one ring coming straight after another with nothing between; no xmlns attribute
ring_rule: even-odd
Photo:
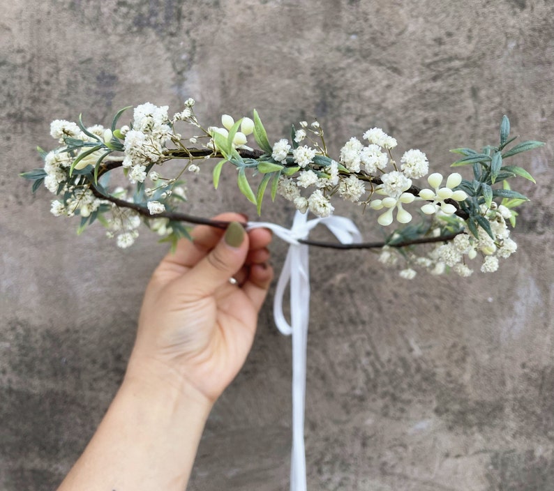
<svg viewBox="0 0 554 491"><path fill-rule="evenodd" d="M405 151L397 162L393 157L396 139L380 128L367 130L365 142L351 137L335 160L329 156L317 121L300 121L298 129L292 126L290 139L272 145L255 110L253 119L234 121L224 114L222 127L204 128L194 105L195 101L188 99L184 109L170 117L167 106L145 103L135 107L128 126L119 128L121 114L130 107L117 112L110 128L86 127L81 116L78 123L52 121L50 134L59 146L49 152L39 148L44 167L22 176L33 181L33 192L44 184L57 195L51 205L54 216L80 216L77 233L100 222L121 248L135 242L141 222L173 247L181 237L190 239L184 223L226 227L226 222L178 211L186 202L184 174L201 172L210 165L209 159L220 158L212 169L214 187L218 188L223 166L234 166L237 185L257 206L258 214L269 190L272 200L280 195L302 213L309 210L319 217L333 213L332 203L338 197L377 211L377 223L382 227L390 227L396 219L403 226L382 242L303 242L334 248L380 248L379 259L384 264L404 260L403 278L413 278L418 268L434 274L452 269L468 276L477 256L481 257L481 271L496 271L499 258L516 251L508 223L515 227L515 209L528 199L512 190L508 181L516 176L535 181L525 169L504 165L504 160L544 143L525 141L507 149L516 139L509 137L507 116L500 125L500 144L481 151L452 150L462 156L452 166L472 166L473 175L463 179L457 172L428 174L428 159L417 149ZM186 137L177 133L182 123L192 128ZM249 146L250 135L257 149ZM182 160L183 165L175 175L165 174L163 164L174 159ZM122 169L130 186L108 188L114 169ZM414 183L425 176L427 183L421 187ZM252 178L259 181L256 191ZM416 223L408 210L419 214ZM432 243L432 248L418 252L416 246L426 243Z"/></svg>

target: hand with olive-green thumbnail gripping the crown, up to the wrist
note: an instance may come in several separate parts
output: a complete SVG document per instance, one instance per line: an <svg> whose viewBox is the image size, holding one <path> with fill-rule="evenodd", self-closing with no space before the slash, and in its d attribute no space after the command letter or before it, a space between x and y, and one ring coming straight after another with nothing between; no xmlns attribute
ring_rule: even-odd
<svg viewBox="0 0 554 491"><path fill-rule="evenodd" d="M227 231L195 227L193 241L181 240L154 271L126 375L192 387L209 403L244 364L273 278L271 232L247 234L236 213L216 219L235 223Z"/></svg>

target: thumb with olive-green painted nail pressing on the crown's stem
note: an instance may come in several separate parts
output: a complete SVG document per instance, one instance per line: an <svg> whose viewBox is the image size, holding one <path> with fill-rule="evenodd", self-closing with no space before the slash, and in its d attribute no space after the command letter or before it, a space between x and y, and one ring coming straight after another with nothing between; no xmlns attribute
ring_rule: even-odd
<svg viewBox="0 0 554 491"><path fill-rule="evenodd" d="M211 295L241 269L247 253L248 236L244 227L239 222L231 222L216 247L182 280L197 296Z"/></svg>

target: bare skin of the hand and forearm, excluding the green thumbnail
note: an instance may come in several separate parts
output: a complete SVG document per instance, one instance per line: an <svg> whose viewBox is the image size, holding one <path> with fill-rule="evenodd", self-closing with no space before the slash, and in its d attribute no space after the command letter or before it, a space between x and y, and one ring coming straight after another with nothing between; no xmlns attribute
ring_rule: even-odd
<svg viewBox="0 0 554 491"><path fill-rule="evenodd" d="M215 218L244 222L237 213ZM186 488L211 407L244 364L273 278L271 232L245 232L238 247L224 232L196 227L194 241L179 242L154 271L123 384L59 491Z"/></svg>

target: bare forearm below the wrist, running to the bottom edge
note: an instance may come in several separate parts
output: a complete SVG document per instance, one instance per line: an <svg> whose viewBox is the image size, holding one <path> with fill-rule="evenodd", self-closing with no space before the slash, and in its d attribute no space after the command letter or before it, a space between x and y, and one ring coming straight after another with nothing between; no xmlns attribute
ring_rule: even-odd
<svg viewBox="0 0 554 491"><path fill-rule="evenodd" d="M210 409L192 388L127 376L59 491L183 491Z"/></svg>

